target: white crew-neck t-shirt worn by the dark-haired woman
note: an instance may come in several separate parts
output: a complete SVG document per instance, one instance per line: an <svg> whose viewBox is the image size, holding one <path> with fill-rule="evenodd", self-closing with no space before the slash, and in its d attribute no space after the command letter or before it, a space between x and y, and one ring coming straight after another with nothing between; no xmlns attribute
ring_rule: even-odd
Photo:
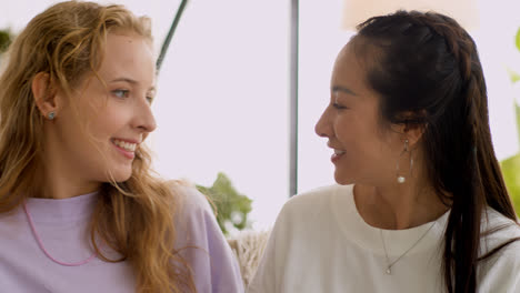
<svg viewBox="0 0 520 293"><path fill-rule="evenodd" d="M492 209L487 212L488 228L510 225L483 239L483 251L520 236L512 221ZM278 216L248 292L444 292L441 256L448 215L412 229L380 230L358 213L352 185L300 194L288 201ZM390 263L417 242L391 267L391 274L386 272L381 236ZM520 292L520 243L481 263L478 282L479 292Z"/></svg>

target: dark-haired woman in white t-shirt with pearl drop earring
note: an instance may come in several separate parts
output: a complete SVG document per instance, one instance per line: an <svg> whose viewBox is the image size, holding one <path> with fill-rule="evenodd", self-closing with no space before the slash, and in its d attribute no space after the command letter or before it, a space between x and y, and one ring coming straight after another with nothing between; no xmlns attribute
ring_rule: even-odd
<svg viewBox="0 0 520 293"><path fill-rule="evenodd" d="M290 200L250 292L520 292L520 229L477 48L451 18L371 18L316 125L339 185Z"/></svg>

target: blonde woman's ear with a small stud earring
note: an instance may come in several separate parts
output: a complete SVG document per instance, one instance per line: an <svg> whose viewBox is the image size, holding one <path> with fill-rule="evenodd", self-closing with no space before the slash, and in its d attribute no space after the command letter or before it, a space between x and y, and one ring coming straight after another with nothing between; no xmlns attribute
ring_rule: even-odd
<svg viewBox="0 0 520 293"><path fill-rule="evenodd" d="M54 115L58 113L63 101L56 87L52 85L49 73L37 73L32 79L31 90L41 115L48 118L51 112Z"/></svg>

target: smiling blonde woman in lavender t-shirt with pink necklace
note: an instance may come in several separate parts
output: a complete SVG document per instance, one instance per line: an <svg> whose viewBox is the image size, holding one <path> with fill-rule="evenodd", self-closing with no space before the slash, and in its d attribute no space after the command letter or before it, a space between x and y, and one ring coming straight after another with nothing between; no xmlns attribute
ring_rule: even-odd
<svg viewBox="0 0 520 293"><path fill-rule="evenodd" d="M206 199L152 175L149 19L62 2L0 79L2 292L242 292Z"/></svg>

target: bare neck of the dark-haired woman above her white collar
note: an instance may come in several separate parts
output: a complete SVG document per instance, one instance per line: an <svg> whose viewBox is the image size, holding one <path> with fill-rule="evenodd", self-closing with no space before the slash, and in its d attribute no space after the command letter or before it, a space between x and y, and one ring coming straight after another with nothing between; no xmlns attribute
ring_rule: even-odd
<svg viewBox="0 0 520 293"><path fill-rule="evenodd" d="M448 210L431 186L417 181L379 186L356 184L354 200L367 223L389 230L422 225Z"/></svg>

